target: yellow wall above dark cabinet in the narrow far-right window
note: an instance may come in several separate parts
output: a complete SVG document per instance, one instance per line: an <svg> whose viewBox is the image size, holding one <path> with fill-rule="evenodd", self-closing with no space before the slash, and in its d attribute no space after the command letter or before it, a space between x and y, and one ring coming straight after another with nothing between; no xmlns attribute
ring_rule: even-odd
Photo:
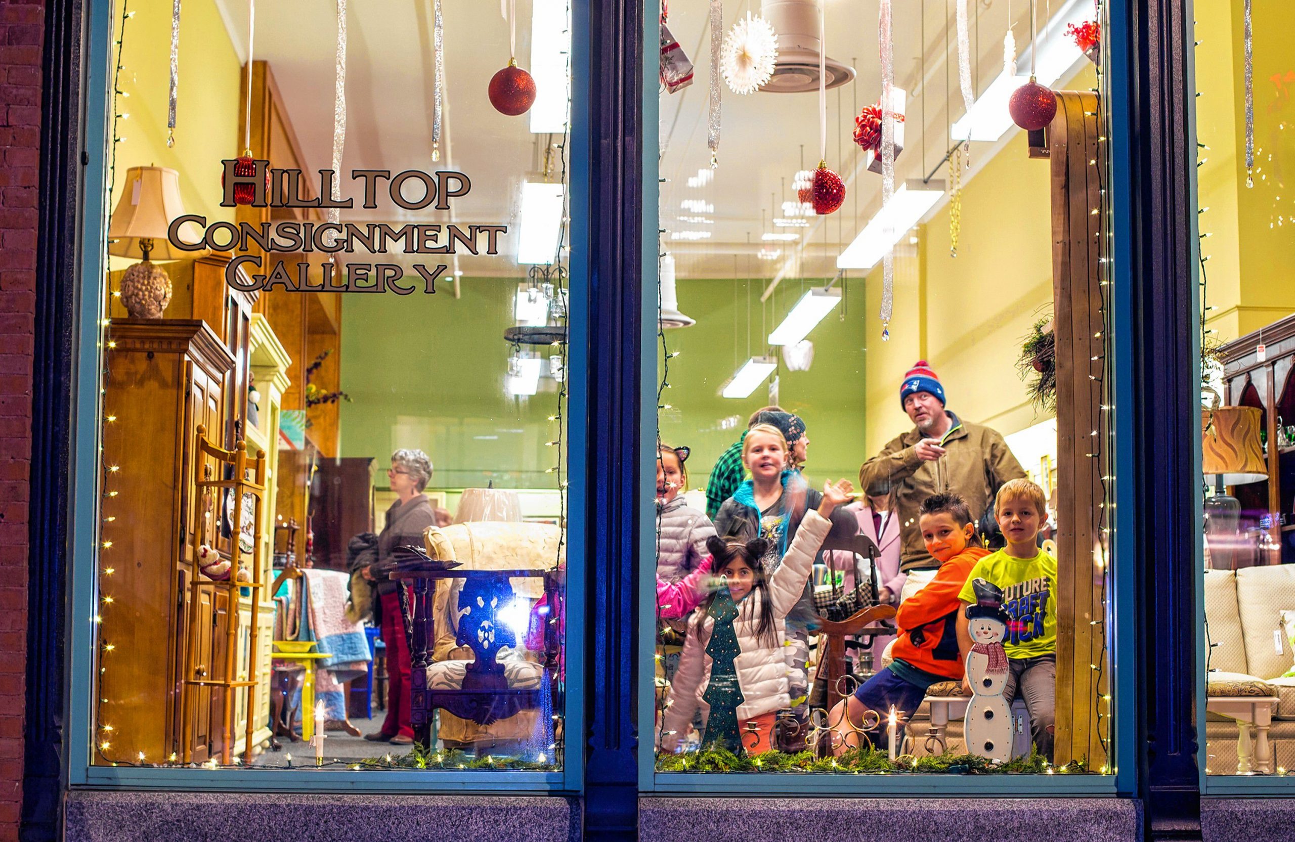
<svg viewBox="0 0 1295 842"><path fill-rule="evenodd" d="M1295 4L1252 9L1255 176L1246 185L1242 0L1195 4L1197 170L1210 328L1228 342L1295 312Z"/></svg>

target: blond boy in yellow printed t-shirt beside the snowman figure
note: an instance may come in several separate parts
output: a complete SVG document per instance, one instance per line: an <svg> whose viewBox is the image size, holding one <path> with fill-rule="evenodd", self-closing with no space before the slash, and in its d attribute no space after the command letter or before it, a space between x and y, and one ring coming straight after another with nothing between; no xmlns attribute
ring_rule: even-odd
<svg viewBox="0 0 1295 842"><path fill-rule="evenodd" d="M1049 760L1057 707L1057 560L1039 549L1039 529L1046 522L1044 490L1028 479L1011 479L998 490L993 514L1008 545L976 562L958 598L958 649L963 663L971 650L966 606L976 602L971 583L992 582L1002 589L1002 608L1011 620L1002 648L1008 653L1008 683L1002 698L1010 705L1018 692L1030 711L1035 746ZM963 689L970 693L967 679Z"/></svg>

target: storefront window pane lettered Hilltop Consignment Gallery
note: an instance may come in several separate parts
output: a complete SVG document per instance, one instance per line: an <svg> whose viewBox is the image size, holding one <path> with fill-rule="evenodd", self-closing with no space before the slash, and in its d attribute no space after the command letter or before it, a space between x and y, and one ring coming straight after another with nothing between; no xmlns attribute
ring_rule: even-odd
<svg viewBox="0 0 1295 842"><path fill-rule="evenodd" d="M514 5L118 0L92 767L563 768L571 26Z"/></svg>

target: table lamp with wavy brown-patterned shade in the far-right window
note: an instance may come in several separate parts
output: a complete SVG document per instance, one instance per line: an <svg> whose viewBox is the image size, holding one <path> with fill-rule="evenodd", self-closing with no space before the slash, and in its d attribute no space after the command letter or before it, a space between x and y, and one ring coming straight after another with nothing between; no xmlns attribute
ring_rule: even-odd
<svg viewBox="0 0 1295 842"><path fill-rule="evenodd" d="M1263 413L1255 407L1216 407L1200 411L1200 473L1215 478L1215 494L1204 504L1210 563L1233 570L1244 539L1237 532L1241 501L1226 486L1268 479L1259 438Z"/></svg>

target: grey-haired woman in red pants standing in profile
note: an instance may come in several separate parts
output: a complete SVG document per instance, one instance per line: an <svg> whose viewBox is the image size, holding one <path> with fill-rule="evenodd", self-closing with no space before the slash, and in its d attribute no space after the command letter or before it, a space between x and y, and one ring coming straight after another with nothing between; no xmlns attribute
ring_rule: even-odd
<svg viewBox="0 0 1295 842"><path fill-rule="evenodd" d="M387 525L378 535L378 562L391 558L398 547L422 547L422 532L436 525L431 500L422 490L431 482L431 460L422 451L399 449L391 455L387 470L396 501L387 509ZM382 615L382 640L387 645L387 718L382 731L365 740L395 745L413 742L409 724L409 643L405 640L404 617L400 613L400 583L374 576L373 567L365 578L377 583L378 610Z"/></svg>

